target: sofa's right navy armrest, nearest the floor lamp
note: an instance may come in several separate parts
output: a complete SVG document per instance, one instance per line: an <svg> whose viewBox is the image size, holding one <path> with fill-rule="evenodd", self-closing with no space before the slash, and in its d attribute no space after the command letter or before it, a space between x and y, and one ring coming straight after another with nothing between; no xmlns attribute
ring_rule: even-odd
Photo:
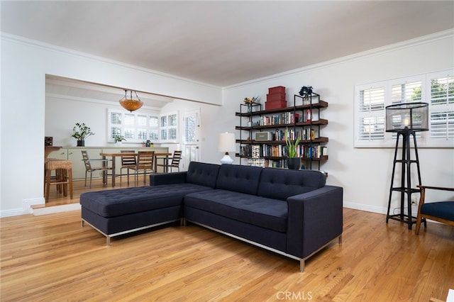
<svg viewBox="0 0 454 302"><path fill-rule="evenodd" d="M323 186L290 196L287 206L287 253L304 258L342 235L342 187Z"/></svg>

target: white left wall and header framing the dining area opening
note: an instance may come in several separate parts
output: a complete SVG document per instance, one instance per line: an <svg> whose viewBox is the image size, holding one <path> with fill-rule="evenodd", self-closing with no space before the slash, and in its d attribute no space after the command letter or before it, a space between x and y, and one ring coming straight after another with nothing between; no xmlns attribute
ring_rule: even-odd
<svg viewBox="0 0 454 302"><path fill-rule="evenodd" d="M218 87L2 34L0 216L30 213L30 205L44 202L45 74L208 104L222 101Z"/></svg>

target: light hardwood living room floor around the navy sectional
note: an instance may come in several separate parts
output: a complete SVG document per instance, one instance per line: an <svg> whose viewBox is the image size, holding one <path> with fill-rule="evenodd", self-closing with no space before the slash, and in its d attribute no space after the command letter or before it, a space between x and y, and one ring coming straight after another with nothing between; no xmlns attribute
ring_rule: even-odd
<svg viewBox="0 0 454 302"><path fill-rule="evenodd" d="M416 236L348 208L343 245L314 255L304 273L296 260L196 225L111 247L82 228L79 211L1 218L0 227L1 301L445 301L454 289L453 227L428 223Z"/></svg>

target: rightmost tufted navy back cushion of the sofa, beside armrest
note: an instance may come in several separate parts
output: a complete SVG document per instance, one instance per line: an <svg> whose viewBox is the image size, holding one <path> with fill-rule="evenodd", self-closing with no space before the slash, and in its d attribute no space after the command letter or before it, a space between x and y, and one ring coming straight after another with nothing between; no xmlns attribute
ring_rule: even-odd
<svg viewBox="0 0 454 302"><path fill-rule="evenodd" d="M325 174L315 170L264 168L260 177L258 196L286 200L325 186Z"/></svg>

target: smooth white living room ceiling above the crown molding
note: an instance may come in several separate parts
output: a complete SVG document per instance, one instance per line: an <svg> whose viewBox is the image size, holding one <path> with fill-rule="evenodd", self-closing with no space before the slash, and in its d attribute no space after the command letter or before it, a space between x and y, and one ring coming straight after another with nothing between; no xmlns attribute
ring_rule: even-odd
<svg viewBox="0 0 454 302"><path fill-rule="evenodd" d="M454 1L0 4L4 33L219 87L454 28Z"/></svg>

